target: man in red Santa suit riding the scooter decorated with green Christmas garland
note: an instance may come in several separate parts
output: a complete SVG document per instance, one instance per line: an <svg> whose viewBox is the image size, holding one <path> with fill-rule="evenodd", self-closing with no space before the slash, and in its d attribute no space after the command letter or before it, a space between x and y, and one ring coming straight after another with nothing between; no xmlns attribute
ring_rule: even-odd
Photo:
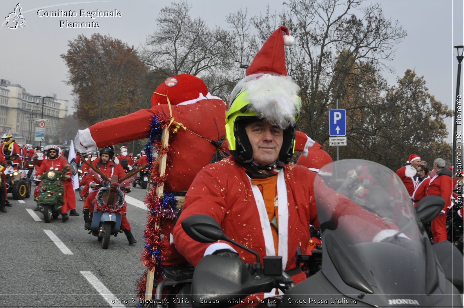
<svg viewBox="0 0 464 308"><path fill-rule="evenodd" d="M62 171L66 165L69 165L68 161L61 156L61 149L56 145L48 147L46 155L47 159L42 160L40 167L37 168L36 176L40 179L41 175L49 169L56 171ZM76 212L76 198L74 196L74 188L71 182L72 170L68 170L65 175L64 184L64 205L61 207L62 221L65 222L69 219L68 211L70 216L79 216Z"/></svg>

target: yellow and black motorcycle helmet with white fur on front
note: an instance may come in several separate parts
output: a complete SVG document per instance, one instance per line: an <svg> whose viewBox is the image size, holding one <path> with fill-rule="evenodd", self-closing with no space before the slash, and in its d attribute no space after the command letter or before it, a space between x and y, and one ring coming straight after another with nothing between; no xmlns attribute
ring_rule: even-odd
<svg viewBox="0 0 464 308"><path fill-rule="evenodd" d="M253 74L242 79L232 90L226 109L226 137L232 156L242 163L253 160L245 124L263 120L284 131L284 141L277 165L290 162L295 147L295 123L299 118L299 87L290 77Z"/></svg>

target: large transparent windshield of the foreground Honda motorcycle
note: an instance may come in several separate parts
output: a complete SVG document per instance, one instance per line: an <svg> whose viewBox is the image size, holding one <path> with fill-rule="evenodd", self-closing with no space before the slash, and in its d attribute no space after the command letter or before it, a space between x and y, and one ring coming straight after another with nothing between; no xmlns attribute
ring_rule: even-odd
<svg viewBox="0 0 464 308"><path fill-rule="evenodd" d="M438 277L430 244L396 173L372 161L340 160L322 167L314 191L322 272L337 289L433 293Z"/></svg>

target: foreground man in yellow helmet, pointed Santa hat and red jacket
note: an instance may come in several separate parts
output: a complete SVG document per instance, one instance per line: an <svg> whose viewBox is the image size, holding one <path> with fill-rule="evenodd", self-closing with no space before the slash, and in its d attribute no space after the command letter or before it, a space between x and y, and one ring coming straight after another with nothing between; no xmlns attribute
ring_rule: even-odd
<svg viewBox="0 0 464 308"><path fill-rule="evenodd" d="M313 188L316 173L289 164L301 99L299 87L287 76L282 31L288 33L280 27L271 35L248 67L247 77L232 91L226 109L232 156L204 167L193 180L174 227L174 244L193 266L209 254L256 261L253 254L226 241L202 244L190 238L182 221L206 213L228 237L255 250L261 259L282 256L283 269L298 283L306 275L296 267L296 248L305 251L309 225L319 227ZM272 44L282 50L270 52ZM269 54L281 58L267 59ZM337 217L359 211L358 205L339 199L329 189L327 198L343 204ZM372 232L366 232L367 240L372 240L380 230L375 226L385 222L367 211L362 216L372 221ZM275 290L270 294L276 294Z"/></svg>

